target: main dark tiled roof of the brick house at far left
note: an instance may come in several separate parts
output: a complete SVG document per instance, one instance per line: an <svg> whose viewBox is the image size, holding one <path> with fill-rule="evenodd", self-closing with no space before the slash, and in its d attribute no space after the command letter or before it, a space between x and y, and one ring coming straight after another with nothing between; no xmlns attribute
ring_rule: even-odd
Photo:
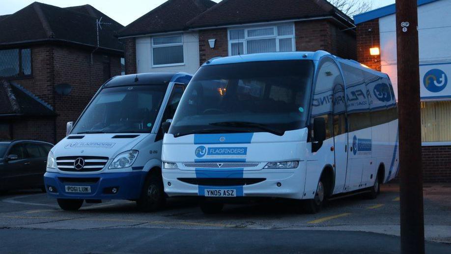
<svg viewBox="0 0 451 254"><path fill-rule="evenodd" d="M123 45L114 37L122 25L90 5L60 8L33 2L23 9L0 18L0 47L37 41L64 41L97 46L96 19L102 17L99 32L100 47L123 51Z"/></svg>

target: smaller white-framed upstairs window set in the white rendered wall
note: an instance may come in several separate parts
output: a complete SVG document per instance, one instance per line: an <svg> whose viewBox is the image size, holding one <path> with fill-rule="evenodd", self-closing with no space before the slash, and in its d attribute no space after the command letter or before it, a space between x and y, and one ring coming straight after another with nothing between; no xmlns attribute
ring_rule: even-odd
<svg viewBox="0 0 451 254"><path fill-rule="evenodd" d="M152 67L183 64L182 35L152 38Z"/></svg>

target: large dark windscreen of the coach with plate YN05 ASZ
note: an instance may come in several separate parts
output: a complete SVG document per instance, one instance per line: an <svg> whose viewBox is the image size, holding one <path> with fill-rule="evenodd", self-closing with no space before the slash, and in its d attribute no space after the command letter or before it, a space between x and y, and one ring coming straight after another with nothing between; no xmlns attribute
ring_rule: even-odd
<svg viewBox="0 0 451 254"><path fill-rule="evenodd" d="M311 60L254 61L202 66L188 85L169 133L285 131L306 126Z"/></svg>

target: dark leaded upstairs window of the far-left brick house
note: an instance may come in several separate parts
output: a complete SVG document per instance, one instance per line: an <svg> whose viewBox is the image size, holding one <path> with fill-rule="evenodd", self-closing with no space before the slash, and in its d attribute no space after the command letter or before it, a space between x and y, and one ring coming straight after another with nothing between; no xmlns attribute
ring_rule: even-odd
<svg viewBox="0 0 451 254"><path fill-rule="evenodd" d="M31 49L0 50L0 77L31 76Z"/></svg>

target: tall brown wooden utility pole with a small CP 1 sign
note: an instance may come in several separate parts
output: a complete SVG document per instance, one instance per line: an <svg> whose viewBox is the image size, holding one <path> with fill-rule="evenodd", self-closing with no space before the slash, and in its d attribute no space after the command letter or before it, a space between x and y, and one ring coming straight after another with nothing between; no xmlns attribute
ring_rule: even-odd
<svg viewBox="0 0 451 254"><path fill-rule="evenodd" d="M396 0L401 253L424 253L417 0Z"/></svg>

